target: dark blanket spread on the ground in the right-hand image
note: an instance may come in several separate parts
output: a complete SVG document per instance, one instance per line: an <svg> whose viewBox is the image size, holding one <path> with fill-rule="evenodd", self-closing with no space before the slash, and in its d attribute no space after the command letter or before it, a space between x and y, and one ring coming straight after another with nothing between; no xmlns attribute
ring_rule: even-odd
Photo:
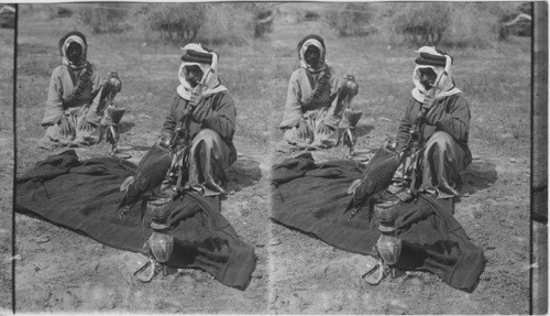
<svg viewBox="0 0 550 316"><path fill-rule="evenodd" d="M353 161L316 164L309 153L274 165L272 218L336 248L375 255L376 217L369 224L365 208L350 220L343 214L352 198L348 187L363 171L364 165ZM396 207L396 235L403 249L395 266L430 271L455 288L473 291L485 258L452 216L452 203L421 195Z"/></svg>

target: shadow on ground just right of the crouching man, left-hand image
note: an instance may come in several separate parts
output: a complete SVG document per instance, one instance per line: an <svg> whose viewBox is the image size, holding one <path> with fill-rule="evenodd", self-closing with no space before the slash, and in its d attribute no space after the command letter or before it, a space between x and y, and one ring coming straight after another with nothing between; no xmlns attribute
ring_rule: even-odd
<svg viewBox="0 0 550 316"><path fill-rule="evenodd" d="M262 171L257 161L239 159L226 170L226 175L227 192L239 192L246 186L255 185L262 178Z"/></svg>

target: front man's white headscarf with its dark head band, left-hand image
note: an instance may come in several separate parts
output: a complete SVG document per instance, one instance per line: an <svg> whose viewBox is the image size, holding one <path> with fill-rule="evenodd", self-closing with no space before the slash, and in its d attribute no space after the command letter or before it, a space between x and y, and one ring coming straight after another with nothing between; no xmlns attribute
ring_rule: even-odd
<svg viewBox="0 0 550 316"><path fill-rule="evenodd" d="M218 78L218 54L195 43L187 44L182 50L184 51L184 55L182 56L183 63L177 73L180 84L177 87L177 92L182 98L189 100L191 92L200 88L202 88L201 95L204 97L228 90L228 88L221 85ZM199 66L204 74L202 80L195 88L185 78L187 73L186 67L193 65Z"/></svg>

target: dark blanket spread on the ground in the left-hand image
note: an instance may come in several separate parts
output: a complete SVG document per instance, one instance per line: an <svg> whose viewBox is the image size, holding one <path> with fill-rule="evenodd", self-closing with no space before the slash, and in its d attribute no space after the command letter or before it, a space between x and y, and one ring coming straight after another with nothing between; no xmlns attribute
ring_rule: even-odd
<svg viewBox="0 0 550 316"><path fill-rule="evenodd" d="M108 246L143 252L151 235L141 205L120 216L122 182L135 165L117 157L79 161L69 150L38 162L16 179L15 211L64 226ZM256 258L254 248L239 239L220 214L218 197L189 193L178 199L169 217L175 247L168 265L200 268L226 285L245 288Z"/></svg>

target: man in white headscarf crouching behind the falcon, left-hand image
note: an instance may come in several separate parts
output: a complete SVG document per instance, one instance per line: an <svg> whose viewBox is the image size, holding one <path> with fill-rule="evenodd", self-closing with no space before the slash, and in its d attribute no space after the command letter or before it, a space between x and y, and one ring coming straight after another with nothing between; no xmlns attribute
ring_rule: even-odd
<svg viewBox="0 0 550 316"><path fill-rule="evenodd" d="M183 50L180 85L158 143L176 148L170 174L178 186L224 194L224 170L237 160L235 106L218 78L218 55L200 44Z"/></svg>

